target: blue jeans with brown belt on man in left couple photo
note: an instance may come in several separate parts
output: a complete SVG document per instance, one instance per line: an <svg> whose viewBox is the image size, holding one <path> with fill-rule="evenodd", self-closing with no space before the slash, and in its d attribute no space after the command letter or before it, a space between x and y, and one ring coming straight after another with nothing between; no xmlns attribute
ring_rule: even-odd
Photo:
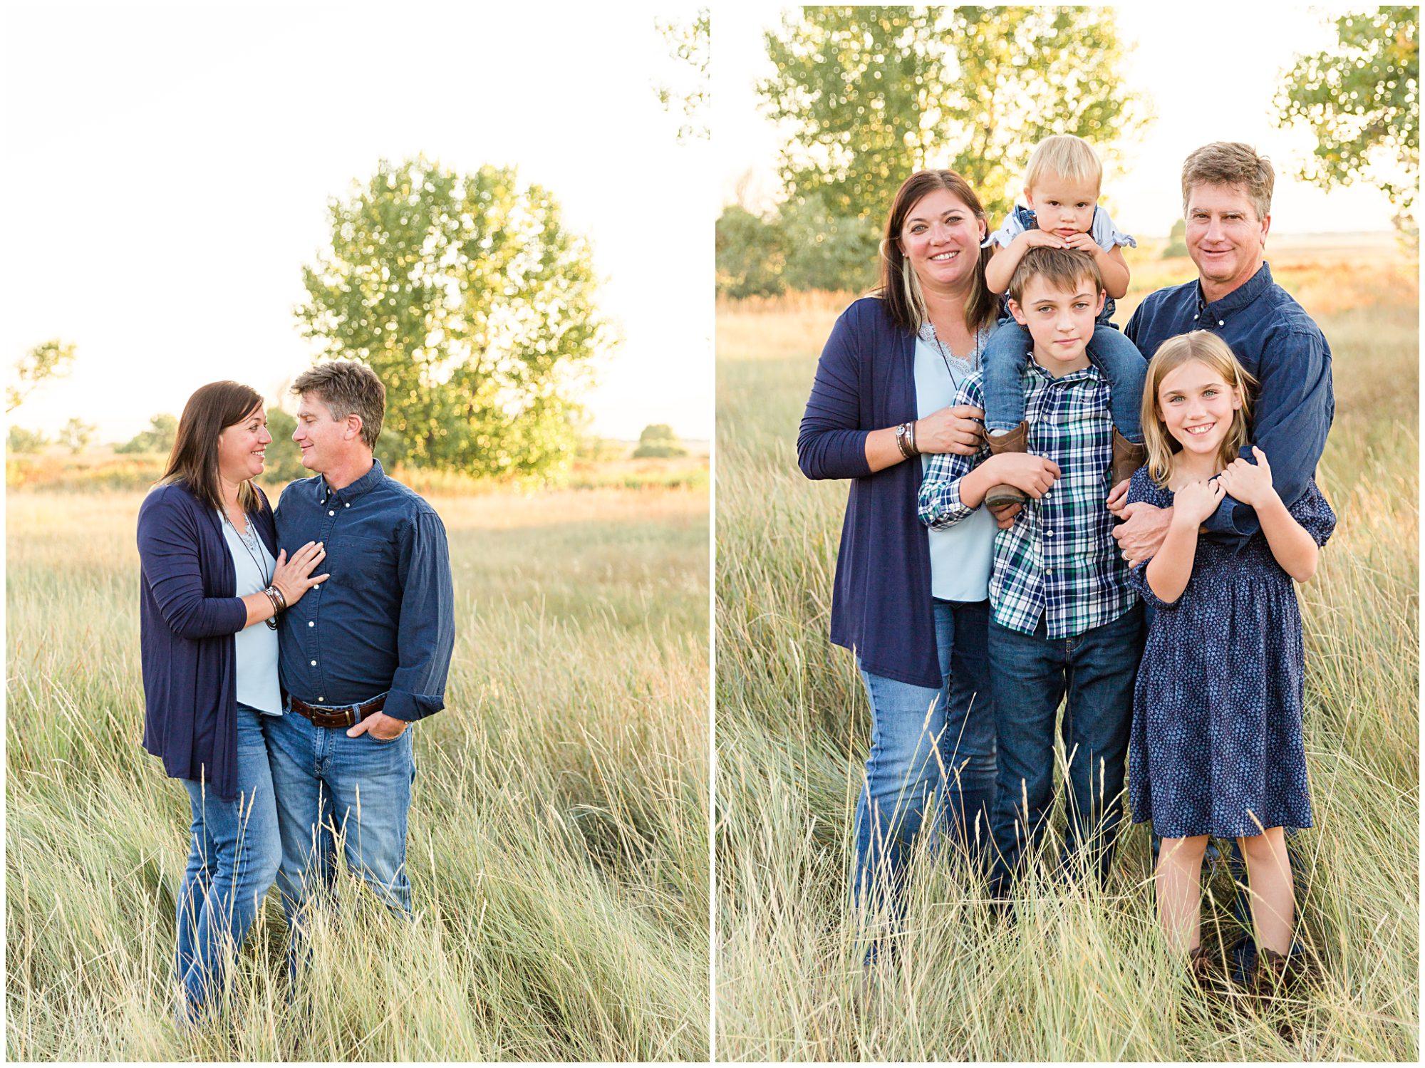
<svg viewBox="0 0 1425 1068"><path fill-rule="evenodd" d="M286 711L269 719L266 731L282 836L276 884L292 930L295 964L309 899L335 886L338 843L352 871L390 909L409 914L406 816L416 778L413 728L392 742L369 732L348 738L345 728L316 726Z"/></svg>

